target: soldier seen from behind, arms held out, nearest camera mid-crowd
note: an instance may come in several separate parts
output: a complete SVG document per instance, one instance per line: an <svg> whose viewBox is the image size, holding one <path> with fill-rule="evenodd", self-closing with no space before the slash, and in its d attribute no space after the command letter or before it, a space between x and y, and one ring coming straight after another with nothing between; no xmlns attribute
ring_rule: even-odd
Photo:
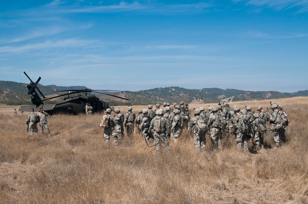
<svg viewBox="0 0 308 204"><path fill-rule="evenodd" d="M170 150L167 135L170 134L168 121L163 117L163 110L157 110L157 116L151 121L149 131L154 130L156 152L160 152L160 142L164 150Z"/></svg>

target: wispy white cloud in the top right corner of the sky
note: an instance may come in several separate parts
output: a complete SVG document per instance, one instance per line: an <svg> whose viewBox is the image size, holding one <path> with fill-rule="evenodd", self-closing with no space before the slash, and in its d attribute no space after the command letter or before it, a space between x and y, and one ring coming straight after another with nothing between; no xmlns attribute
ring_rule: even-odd
<svg viewBox="0 0 308 204"><path fill-rule="evenodd" d="M269 7L277 11L288 10L293 7L298 7L299 13L308 11L307 0L233 0L233 2L246 2L247 5Z"/></svg>

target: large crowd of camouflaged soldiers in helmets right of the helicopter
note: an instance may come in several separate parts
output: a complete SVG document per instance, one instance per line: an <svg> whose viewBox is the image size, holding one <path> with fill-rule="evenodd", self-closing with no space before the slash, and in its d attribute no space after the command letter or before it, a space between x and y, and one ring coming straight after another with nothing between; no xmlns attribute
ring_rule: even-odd
<svg viewBox="0 0 308 204"><path fill-rule="evenodd" d="M184 128L194 135L195 151L205 151L206 139L205 135L209 134L211 139L212 150L222 148L222 135L235 135L238 150L248 150L248 142L250 139L255 141L257 150L261 150L264 144L264 134L271 130L274 133L274 141L276 147L280 147L281 143L286 141L285 130L289 121L286 112L282 110L282 105L276 105L270 102L271 109L264 110L262 107L257 108L256 113L251 111L250 106L240 110L237 105L232 108L229 104L219 103L217 106L209 106L208 112L203 107L194 108L194 117L190 118L191 112L188 104L180 101L180 104L163 103L164 108L160 108L160 104L156 104L156 110L153 106L148 105L148 110L139 110L136 117L132 112L132 107L128 107L128 112L124 116L119 108L114 112L117 116L111 116L112 110L108 108L106 114L108 117L108 127L104 128L104 137L109 144L110 136L114 138L117 144L118 138L124 137L124 127L127 130L127 136L130 137L135 126L145 139L152 137L156 151L160 152L160 145L165 150L169 150L168 139L173 139L174 143L178 139Z"/></svg>

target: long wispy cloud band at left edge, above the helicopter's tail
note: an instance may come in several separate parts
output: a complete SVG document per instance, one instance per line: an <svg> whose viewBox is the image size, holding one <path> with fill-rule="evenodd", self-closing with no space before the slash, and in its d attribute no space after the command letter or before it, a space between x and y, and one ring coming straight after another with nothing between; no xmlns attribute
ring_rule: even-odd
<svg viewBox="0 0 308 204"><path fill-rule="evenodd" d="M43 43L36 44L28 44L21 46L3 46L0 47L0 53L20 53L28 50L42 50L42 49L50 49L50 48L63 48L63 47L87 47L97 43L94 40L78 40L76 38L70 38L59 41L48 40Z"/></svg>

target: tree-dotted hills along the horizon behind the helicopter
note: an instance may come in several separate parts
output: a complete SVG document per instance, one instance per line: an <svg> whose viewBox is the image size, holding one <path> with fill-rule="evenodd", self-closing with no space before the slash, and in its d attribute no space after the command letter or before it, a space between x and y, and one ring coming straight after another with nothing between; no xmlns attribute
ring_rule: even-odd
<svg viewBox="0 0 308 204"><path fill-rule="evenodd" d="M42 92L58 91L58 90L79 90L87 88L85 86L43 86L38 84ZM27 94L26 84L13 81L0 81L0 103L11 105L30 104L30 97ZM290 98L296 96L308 96L308 90L298 91L294 93L281 93L277 91L244 91L237 89L220 89L220 88L203 88L203 89L186 89L180 87L153 88L149 90L138 91L140 94L128 92L105 92L115 96L130 99L129 101L115 98L112 96L95 93L97 97L112 105L144 105L156 103L178 103L183 100L191 103L215 103L215 102L231 102L241 100L265 100L277 98ZM63 93L63 92L62 92ZM51 97L60 93L46 93L45 96ZM57 103L63 101L63 98L57 98L48 103Z"/></svg>

